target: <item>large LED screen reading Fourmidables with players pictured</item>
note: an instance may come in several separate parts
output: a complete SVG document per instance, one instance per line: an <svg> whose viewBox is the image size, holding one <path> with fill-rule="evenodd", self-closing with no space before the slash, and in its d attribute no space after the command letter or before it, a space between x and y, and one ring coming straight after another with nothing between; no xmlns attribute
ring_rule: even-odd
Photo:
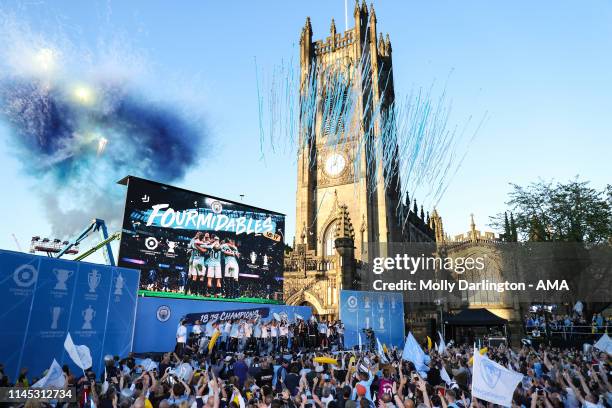
<svg viewBox="0 0 612 408"><path fill-rule="evenodd" d="M285 216L128 177L119 265L145 295L281 301Z"/></svg>

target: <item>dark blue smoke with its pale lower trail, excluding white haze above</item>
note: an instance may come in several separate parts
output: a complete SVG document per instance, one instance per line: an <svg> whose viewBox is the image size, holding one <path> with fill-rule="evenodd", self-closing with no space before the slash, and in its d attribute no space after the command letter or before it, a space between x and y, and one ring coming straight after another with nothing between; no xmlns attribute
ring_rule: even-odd
<svg viewBox="0 0 612 408"><path fill-rule="evenodd" d="M108 83L2 79L0 122L59 236L93 217L116 223L123 204L118 179L178 180L197 164L205 140L203 127L172 106Z"/></svg>

